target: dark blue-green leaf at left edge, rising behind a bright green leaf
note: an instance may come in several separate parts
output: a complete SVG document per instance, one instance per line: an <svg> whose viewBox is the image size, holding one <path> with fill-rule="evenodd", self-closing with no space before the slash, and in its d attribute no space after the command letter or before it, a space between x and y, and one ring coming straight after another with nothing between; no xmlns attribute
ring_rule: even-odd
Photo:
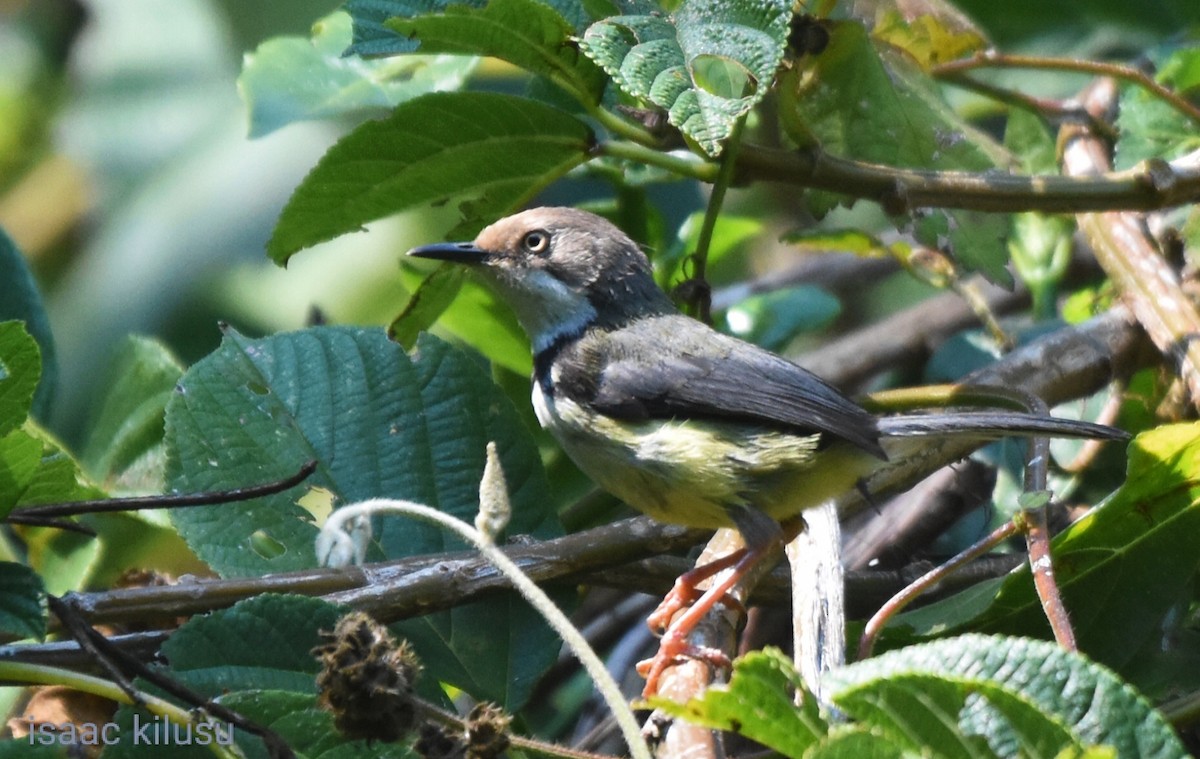
<svg viewBox="0 0 1200 759"><path fill-rule="evenodd" d="M0 229L0 322L17 319L25 323L25 330L32 335L41 352L41 381L34 394L32 413L38 419L46 419L54 387L59 378L59 364L54 351L54 335L50 333L50 319L42 303L34 274L25 263L25 257L17 250L12 239ZM2 357L0 347L0 357ZM0 369L0 382L4 380ZM2 395L0 384L0 395ZM0 401L2 404L2 401ZM29 411L26 408L26 411ZM0 435L4 435L4 410L0 407ZM18 423L19 424L19 423Z"/></svg>

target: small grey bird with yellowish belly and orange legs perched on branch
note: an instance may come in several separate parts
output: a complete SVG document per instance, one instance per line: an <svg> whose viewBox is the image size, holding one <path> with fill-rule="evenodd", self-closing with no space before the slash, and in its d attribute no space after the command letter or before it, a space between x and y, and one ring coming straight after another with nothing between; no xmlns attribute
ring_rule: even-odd
<svg viewBox="0 0 1200 759"><path fill-rule="evenodd" d="M913 441L967 435L1123 438L1021 412L876 416L797 364L682 313L641 247L574 208L506 216L409 256L464 264L506 301L533 351L539 423L596 485L664 522L734 527L746 548L680 579L646 695L730 587L781 545L780 522L853 489ZM695 584L733 567L696 598ZM676 615L686 602L685 614Z"/></svg>

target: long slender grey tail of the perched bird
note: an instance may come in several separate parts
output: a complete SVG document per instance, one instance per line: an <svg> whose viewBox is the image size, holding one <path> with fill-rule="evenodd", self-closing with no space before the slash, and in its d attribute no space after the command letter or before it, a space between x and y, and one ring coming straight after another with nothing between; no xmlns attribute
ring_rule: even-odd
<svg viewBox="0 0 1200 759"><path fill-rule="evenodd" d="M962 411L881 417L878 430L880 437L952 435L989 440L1008 436L1129 438L1129 434L1124 430L1104 424L1058 419L1018 411Z"/></svg>

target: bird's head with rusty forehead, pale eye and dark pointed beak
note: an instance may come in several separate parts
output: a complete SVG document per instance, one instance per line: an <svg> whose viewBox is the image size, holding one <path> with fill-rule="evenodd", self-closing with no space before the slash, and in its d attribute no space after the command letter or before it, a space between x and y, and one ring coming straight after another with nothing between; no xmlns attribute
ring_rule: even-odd
<svg viewBox="0 0 1200 759"><path fill-rule="evenodd" d="M425 245L408 255L474 265L516 311L535 351L593 324L619 327L673 310L637 244L574 208L522 211L474 243Z"/></svg>

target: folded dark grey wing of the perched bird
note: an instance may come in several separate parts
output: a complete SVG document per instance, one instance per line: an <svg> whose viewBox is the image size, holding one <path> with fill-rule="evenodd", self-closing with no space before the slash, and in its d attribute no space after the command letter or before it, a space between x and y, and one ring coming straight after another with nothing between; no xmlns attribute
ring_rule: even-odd
<svg viewBox="0 0 1200 759"><path fill-rule="evenodd" d="M857 404L796 364L685 316L586 335L568 352L559 387L610 417L826 432L884 458L875 418Z"/></svg>

